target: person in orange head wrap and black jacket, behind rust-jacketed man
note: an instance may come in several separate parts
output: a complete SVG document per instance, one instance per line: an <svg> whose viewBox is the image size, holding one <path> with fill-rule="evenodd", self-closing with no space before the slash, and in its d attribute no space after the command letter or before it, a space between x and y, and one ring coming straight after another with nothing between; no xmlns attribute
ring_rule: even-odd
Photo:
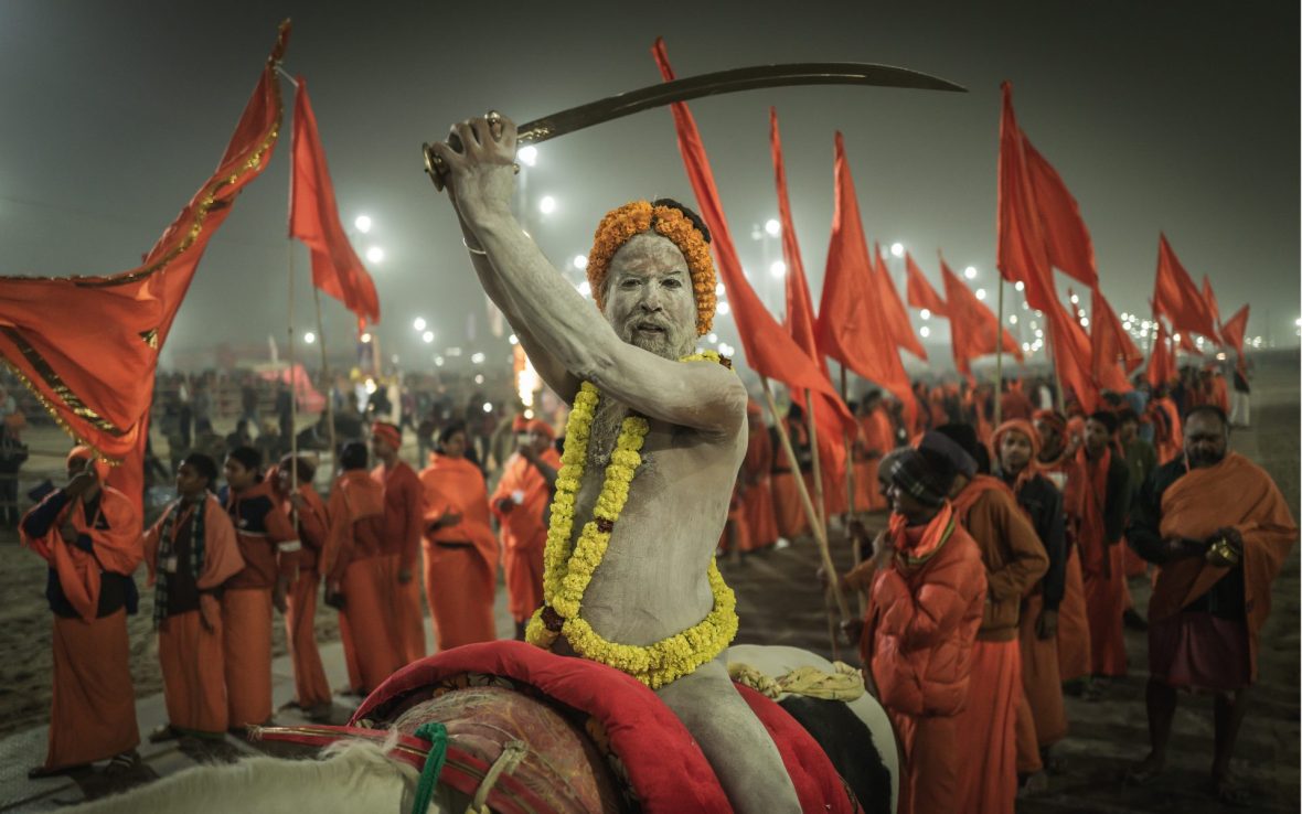
<svg viewBox="0 0 1302 814"><path fill-rule="evenodd" d="M1049 765L1049 748L1066 736L1062 679L1059 672L1057 620L1066 574L1062 494L1039 474L1039 434L1031 422L1005 421L993 435L999 477L1017 495L1049 557L1049 569L1022 602L1018 643L1022 650L1023 703L1017 712L1017 774L1029 789L1043 787L1039 772Z"/></svg>

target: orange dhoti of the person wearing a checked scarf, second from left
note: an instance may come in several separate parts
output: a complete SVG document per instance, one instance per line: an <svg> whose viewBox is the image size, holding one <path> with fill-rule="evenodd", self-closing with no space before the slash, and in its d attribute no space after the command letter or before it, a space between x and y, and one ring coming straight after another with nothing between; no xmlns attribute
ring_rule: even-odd
<svg viewBox="0 0 1302 814"><path fill-rule="evenodd" d="M202 600L216 603L204 596ZM163 699L173 729L182 735L225 736L227 682L221 653L221 613L208 615L212 630L203 628L199 611L168 616L159 623L159 664L163 668Z"/></svg>

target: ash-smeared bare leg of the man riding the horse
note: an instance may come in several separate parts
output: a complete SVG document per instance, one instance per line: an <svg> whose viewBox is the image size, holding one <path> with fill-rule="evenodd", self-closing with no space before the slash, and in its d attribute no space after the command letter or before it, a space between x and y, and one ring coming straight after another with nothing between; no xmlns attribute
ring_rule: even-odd
<svg viewBox="0 0 1302 814"><path fill-rule="evenodd" d="M659 695L697 738L738 814L801 810L773 738L733 688L721 659L660 688Z"/></svg>

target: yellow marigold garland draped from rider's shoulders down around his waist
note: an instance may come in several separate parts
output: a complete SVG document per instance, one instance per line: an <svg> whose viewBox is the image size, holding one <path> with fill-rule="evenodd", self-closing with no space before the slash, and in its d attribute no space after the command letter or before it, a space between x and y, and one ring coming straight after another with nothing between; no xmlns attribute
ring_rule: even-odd
<svg viewBox="0 0 1302 814"><path fill-rule="evenodd" d="M713 352L684 357L684 362L729 362ZM603 638L579 616L583 594L592 574L602 565L615 522L629 498L629 484L642 464L642 444L648 431L647 419L630 415L620 426L605 482L592 509L592 520L583 525L578 542L570 547L574 529L574 498L583 481L587 443L600 395L585 382L574 397L565 425L565 451L556 475L552 520L543 554L543 599L546 604L529 620L525 638L539 647L551 647L564 633L577 654L621 669L651 689L669 684L712 660L737 636L737 598L713 557L710 560L710 591L713 607L695 625L647 646L620 645Z"/></svg>

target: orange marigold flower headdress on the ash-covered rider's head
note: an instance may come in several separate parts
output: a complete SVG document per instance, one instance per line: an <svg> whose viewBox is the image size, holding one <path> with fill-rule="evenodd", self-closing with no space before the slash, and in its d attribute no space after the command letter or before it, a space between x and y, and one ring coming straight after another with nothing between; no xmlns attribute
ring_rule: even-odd
<svg viewBox="0 0 1302 814"><path fill-rule="evenodd" d="M611 210L596 227L592 251L587 255L587 283L596 307L605 307L605 276L611 258L634 234L655 232L673 241L687 260L691 290L697 298L697 336L710 333L715 320L715 263L710 257L710 232L694 212L682 204L660 198L654 202L634 201Z"/></svg>

